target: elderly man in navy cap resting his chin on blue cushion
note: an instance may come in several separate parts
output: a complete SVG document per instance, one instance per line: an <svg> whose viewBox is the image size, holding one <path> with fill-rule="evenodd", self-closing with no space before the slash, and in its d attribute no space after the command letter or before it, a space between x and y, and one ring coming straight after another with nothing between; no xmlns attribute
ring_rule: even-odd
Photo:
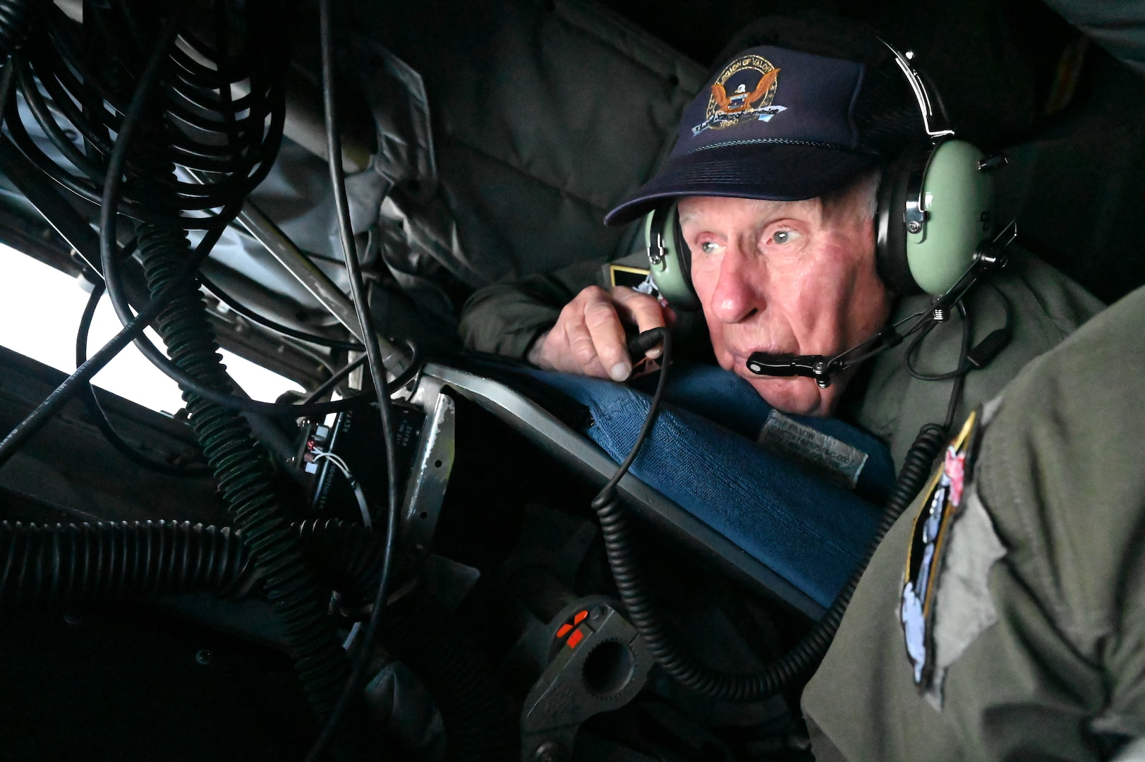
<svg viewBox="0 0 1145 762"><path fill-rule="evenodd" d="M758 26L752 41L765 45L717 72L685 111L664 167L606 221L625 223L677 201L702 315L692 322L708 335L716 361L779 410L836 415L870 431L901 463L923 424L965 415L1101 305L1014 251L988 289L964 299L970 317L885 352L827 388L812 378L750 372L753 352L830 356L930 304L926 294L900 296L876 262L881 180L926 138L894 56L870 30L822 19L776 18ZM747 95L728 96L733 84ZM665 309L654 296L608 288L594 278L598 270L578 265L479 291L463 314L467 346L624 380L632 369L625 323L647 330L693 316ZM949 371L966 370L964 344L977 346L997 329L1009 332L1009 346L966 374L948 414L957 383Z"/></svg>

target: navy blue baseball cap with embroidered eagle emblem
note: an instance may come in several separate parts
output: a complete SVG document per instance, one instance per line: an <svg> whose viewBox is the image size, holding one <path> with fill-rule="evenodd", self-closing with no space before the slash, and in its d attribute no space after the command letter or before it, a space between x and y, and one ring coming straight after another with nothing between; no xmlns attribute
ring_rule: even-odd
<svg viewBox="0 0 1145 762"><path fill-rule="evenodd" d="M814 198L887 160L856 115L867 64L776 46L732 58L684 111L661 171L605 217L624 225L664 198ZM861 108L861 107L859 107Z"/></svg>

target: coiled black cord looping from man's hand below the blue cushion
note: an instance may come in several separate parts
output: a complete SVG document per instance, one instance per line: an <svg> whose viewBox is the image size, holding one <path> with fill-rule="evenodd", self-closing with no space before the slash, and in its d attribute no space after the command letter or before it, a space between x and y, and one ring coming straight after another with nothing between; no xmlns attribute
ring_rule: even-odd
<svg viewBox="0 0 1145 762"><path fill-rule="evenodd" d="M648 645L656 662L670 677L708 698L731 701L763 699L791 685L796 678L805 675L822 659L843 621L843 614L851 603L851 597L859 586L859 580L862 578L871 556L894 521L922 489L930 474L934 457L946 439L947 430L937 424L927 424L919 431L918 438L911 445L903 461L899 478L891 490L891 496L863 560L838 592L827 613L812 626L803 639L787 654L758 673L729 674L712 669L681 647L665 627L664 619L647 592L641 565L630 541L631 516L616 492L616 485L619 484L635 459L660 411L666 378L664 369L671 362L671 337L665 329L654 329L654 331L657 331L658 336L662 337L664 354L663 369L652 398L648 415L627 457L592 501L592 508L600 520L608 565L632 626L640 633L640 637ZM654 345L653 339L656 338L653 331L646 331L640 337L643 338L646 335L649 340L642 345L645 349L650 348Z"/></svg>

